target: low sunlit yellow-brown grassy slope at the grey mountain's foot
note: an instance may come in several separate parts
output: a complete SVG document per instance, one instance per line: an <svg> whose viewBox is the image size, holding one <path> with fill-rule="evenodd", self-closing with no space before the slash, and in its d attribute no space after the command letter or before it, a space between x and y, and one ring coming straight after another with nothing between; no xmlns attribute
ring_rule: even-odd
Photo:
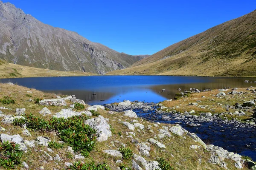
<svg viewBox="0 0 256 170"><path fill-rule="evenodd" d="M82 71L56 71L43 68L33 68L23 65L11 64L0 60L0 78L15 77L60 77L60 76L90 76L94 73Z"/></svg>

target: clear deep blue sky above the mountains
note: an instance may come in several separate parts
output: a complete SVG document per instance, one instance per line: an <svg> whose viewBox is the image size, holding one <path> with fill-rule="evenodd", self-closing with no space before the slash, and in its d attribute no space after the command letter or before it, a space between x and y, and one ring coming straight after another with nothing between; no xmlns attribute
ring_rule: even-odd
<svg viewBox="0 0 256 170"><path fill-rule="evenodd" d="M154 54L256 9L256 0L3 0L126 54Z"/></svg>

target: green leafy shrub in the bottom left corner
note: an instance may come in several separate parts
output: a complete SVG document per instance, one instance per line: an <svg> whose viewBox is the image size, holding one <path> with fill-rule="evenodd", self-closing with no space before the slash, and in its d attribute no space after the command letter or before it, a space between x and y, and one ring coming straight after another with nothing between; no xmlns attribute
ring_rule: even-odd
<svg viewBox="0 0 256 170"><path fill-rule="evenodd" d="M0 144L0 167L14 168L20 164L23 151L19 150L20 145L14 142L3 142Z"/></svg>

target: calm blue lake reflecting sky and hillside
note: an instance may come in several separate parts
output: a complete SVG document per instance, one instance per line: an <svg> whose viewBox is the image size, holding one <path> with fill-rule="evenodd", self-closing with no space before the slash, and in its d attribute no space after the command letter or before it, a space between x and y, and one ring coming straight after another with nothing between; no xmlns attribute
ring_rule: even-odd
<svg viewBox="0 0 256 170"><path fill-rule="evenodd" d="M249 80L252 83L245 83ZM219 78L185 76L86 76L35 77L0 79L28 88L57 94L74 94L89 105L102 105L123 100L161 102L174 99L176 93L189 88L219 89L256 86L256 78ZM177 89L181 88L181 91ZM162 92L162 89L166 91ZM159 93L161 92L161 93ZM94 94L94 95L93 95Z"/></svg>

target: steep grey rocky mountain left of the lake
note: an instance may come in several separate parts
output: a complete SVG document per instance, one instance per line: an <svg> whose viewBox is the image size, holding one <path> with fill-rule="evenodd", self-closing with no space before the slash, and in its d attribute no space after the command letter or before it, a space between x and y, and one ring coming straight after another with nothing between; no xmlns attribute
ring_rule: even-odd
<svg viewBox="0 0 256 170"><path fill-rule="evenodd" d="M0 59L7 62L105 74L143 57L119 53L76 32L41 23L11 3L0 1Z"/></svg>

